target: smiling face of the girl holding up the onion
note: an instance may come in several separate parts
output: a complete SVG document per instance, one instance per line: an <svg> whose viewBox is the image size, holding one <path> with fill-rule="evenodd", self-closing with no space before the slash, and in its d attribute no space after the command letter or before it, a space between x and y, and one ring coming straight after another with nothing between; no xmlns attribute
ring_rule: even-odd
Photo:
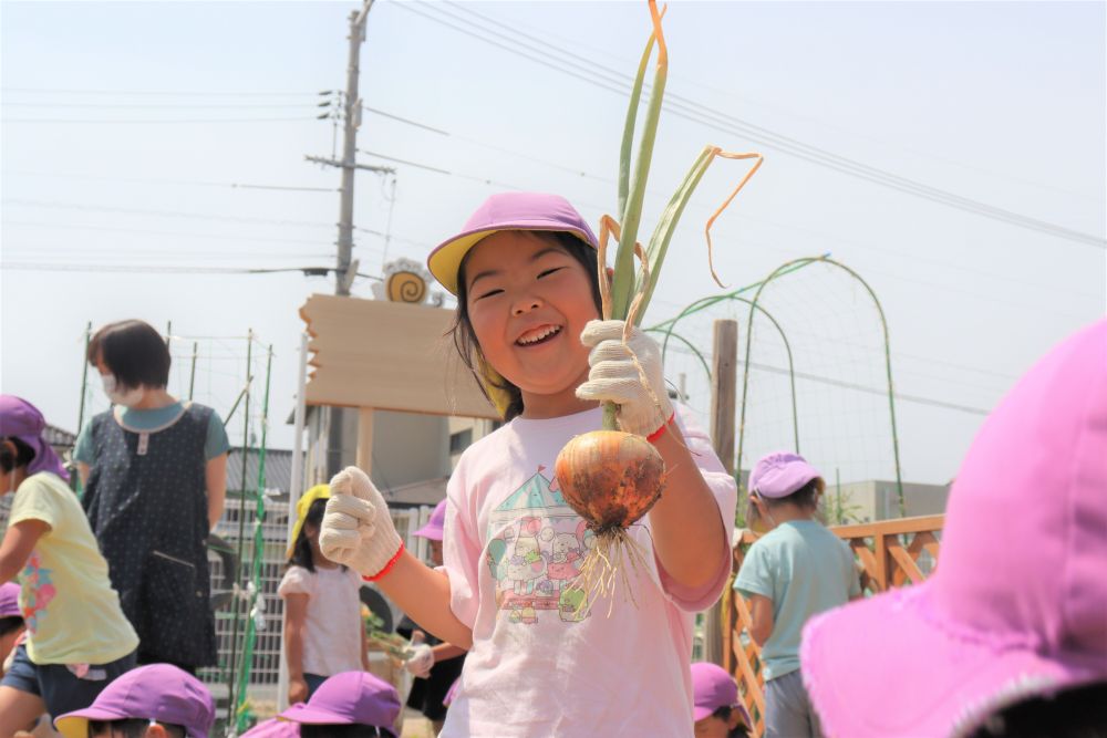
<svg viewBox="0 0 1107 738"><path fill-rule="evenodd" d="M473 248L464 279L480 351L523 392L525 415L586 409L575 395L588 374L580 332L599 311L584 266L552 239L501 231Z"/></svg>

